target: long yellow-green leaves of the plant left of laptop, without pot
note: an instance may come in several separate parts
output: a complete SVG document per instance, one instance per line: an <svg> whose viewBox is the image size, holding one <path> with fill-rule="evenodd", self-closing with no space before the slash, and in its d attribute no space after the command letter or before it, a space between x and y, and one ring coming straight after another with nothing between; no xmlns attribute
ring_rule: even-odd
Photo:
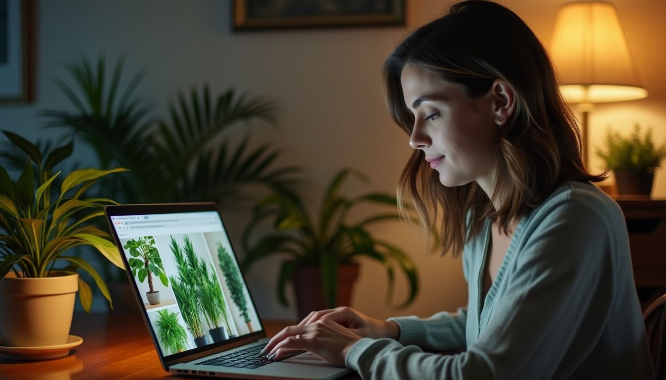
<svg viewBox="0 0 666 380"><path fill-rule="evenodd" d="M3 133L29 159L17 182L0 166L0 258L3 259L0 280L10 270L19 277L48 277L55 262L67 260L70 265L64 271L75 273L83 269L111 304L107 285L93 266L83 258L65 256L65 253L77 246L93 246L115 266L123 268L109 234L91 224L91 220L104 215L106 204L116 202L107 198L83 198L83 195L99 178L127 169L74 170L65 177L56 196L55 192L51 193L52 184L61 172L53 174L53 168L71 155L73 143L43 154L25 138L6 130ZM81 278L79 297L84 309L90 311L92 291Z"/></svg>

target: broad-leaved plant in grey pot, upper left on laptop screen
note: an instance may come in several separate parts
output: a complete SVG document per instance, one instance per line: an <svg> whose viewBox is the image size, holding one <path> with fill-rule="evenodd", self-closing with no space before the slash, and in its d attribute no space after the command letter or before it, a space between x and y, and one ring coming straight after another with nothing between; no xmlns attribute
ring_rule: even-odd
<svg viewBox="0 0 666 380"><path fill-rule="evenodd" d="M151 305L158 305L160 292L153 289L153 274L159 277L165 286L168 286L168 279L162 259L155 248L155 239L153 236L143 236L137 240L131 239L123 248L129 250L129 254L132 255L128 260L129 266L132 268L132 276L138 278L142 284L144 280L148 279L149 291L146 292L146 297Z"/></svg>

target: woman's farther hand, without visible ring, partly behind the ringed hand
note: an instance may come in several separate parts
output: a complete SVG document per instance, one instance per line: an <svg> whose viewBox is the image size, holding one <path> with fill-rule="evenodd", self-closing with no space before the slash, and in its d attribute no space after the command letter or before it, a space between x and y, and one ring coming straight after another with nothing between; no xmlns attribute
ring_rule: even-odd
<svg viewBox="0 0 666 380"><path fill-rule="evenodd" d="M312 311L312 313L300 321L298 325L309 325L322 318L331 319L332 321L347 327L361 337L372 339L398 339L398 336L400 335L400 327L398 327L398 323L368 317L368 315L346 306L336 307L335 309Z"/></svg>

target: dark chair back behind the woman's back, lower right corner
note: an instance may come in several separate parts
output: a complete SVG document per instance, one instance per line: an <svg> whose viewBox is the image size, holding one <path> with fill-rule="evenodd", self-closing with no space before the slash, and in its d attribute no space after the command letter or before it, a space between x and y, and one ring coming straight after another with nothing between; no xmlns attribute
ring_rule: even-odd
<svg viewBox="0 0 666 380"><path fill-rule="evenodd" d="M645 309L643 320L656 378L666 379L666 294Z"/></svg>

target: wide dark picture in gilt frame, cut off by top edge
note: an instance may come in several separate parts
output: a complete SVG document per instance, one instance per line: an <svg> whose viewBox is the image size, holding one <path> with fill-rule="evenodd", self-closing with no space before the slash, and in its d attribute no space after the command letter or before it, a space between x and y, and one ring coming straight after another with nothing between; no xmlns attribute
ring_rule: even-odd
<svg viewBox="0 0 666 380"><path fill-rule="evenodd" d="M233 0L234 31L404 25L404 0Z"/></svg>

